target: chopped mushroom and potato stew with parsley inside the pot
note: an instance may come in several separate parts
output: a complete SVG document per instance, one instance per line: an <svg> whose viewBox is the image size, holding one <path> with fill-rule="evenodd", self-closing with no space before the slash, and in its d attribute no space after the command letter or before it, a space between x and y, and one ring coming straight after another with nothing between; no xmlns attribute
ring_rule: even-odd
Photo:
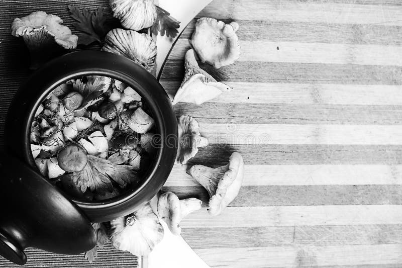
<svg viewBox="0 0 402 268"><path fill-rule="evenodd" d="M32 156L42 175L70 196L113 198L139 184L155 157L154 125L146 102L124 82L71 79L38 107Z"/></svg>

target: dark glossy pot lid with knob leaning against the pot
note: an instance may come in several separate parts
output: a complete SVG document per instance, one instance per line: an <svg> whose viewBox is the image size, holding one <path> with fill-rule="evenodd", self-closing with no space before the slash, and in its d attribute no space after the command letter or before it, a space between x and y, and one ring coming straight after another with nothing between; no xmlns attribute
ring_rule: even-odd
<svg viewBox="0 0 402 268"><path fill-rule="evenodd" d="M28 246L60 254L92 249L87 217L27 163L7 155L0 171L0 255L23 265Z"/></svg>

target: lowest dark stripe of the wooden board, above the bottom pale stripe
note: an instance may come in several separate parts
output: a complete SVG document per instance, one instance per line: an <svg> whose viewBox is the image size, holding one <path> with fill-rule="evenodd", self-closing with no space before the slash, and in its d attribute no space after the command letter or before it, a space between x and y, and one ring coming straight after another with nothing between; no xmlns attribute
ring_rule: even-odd
<svg viewBox="0 0 402 268"><path fill-rule="evenodd" d="M199 233L202 232L202 236ZM401 244L402 225L327 225L239 228L185 228L181 236L193 248L286 245ZM220 237L221 239L217 239Z"/></svg>

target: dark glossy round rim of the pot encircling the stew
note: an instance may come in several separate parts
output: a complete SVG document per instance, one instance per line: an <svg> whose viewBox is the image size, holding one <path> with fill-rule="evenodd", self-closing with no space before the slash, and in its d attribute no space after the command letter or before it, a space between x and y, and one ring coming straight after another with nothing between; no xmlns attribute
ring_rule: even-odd
<svg viewBox="0 0 402 268"><path fill-rule="evenodd" d="M77 200L72 197L70 197L68 194L67 196L81 209L83 209L88 215L88 217L92 220L95 219L94 221L99 221L99 220L105 220L105 219L112 219L111 217L108 217L108 215L102 215L97 217L95 214L88 213L88 211L95 210L95 209L106 209L110 210L111 208L116 208L116 210L120 211L117 214L118 215L123 215L122 211L130 211L133 212L136 207L141 205L142 203L148 202L152 196L156 194L157 191L163 186L163 184L166 182L167 177L171 171L171 168L173 167L175 156L177 153L177 137L178 137L178 129L177 129L177 121L176 117L174 114L173 107L170 103L170 99L168 98L166 92L164 91L162 85L157 81L155 77L153 77L148 71L146 71L142 66L136 64L134 61L127 59L123 56L116 55L110 52L104 52L104 51L79 51L79 52L72 52L66 55L63 55L59 57L58 59L55 59L48 64L46 64L45 67L41 68L41 71L43 73L44 69L49 69L54 65L59 66L60 62L68 62L71 59L74 59L77 62L83 62L83 58L85 57L91 57L96 58L99 56L102 56L105 62L112 63L113 66L107 67L105 64L102 66L96 65L99 62L93 62L90 60L86 60L85 67L79 66L77 68L70 66L68 71L63 75L63 74L58 74L54 77L49 77L48 81L46 81L46 86L44 87L45 89L40 92L40 95L38 98L36 98L36 101L32 101L31 103L27 103L28 107L28 114L25 116L25 130L23 135L25 135L25 142L23 145L23 148L25 148L25 152L23 152L23 158L26 162L28 162L30 165L34 166L36 169L36 164L35 160L32 156L31 149L30 149L30 132L31 132L31 122L34 118L35 112L39 105L43 102L43 100L48 96L49 92L54 90L56 86L59 84L74 78L74 77L79 77L79 76L84 76L84 75L103 75L103 76L108 76L111 78L118 79L127 85L133 87L138 94L144 98L145 102L147 102L153 119L155 120L155 127L158 132L158 134L161 137L161 144L160 148L157 150L157 155L152 161L151 166L148 168L148 170L145 172L144 176L142 177L142 182L140 183L139 187L136 187L135 189L132 189L131 191L129 190L126 193L123 193L121 195L118 195L116 197L113 197L111 199L103 200L103 201L90 201L90 202L84 202L82 200ZM111 60L112 59L112 60ZM119 65L120 63L121 66ZM68 64L68 63L67 63ZM50 67L49 67L50 66ZM129 70L122 70L122 67L127 67L129 66ZM135 75L130 75L129 72L134 73ZM38 74L38 73L37 73ZM38 74L39 75L39 74ZM144 78L145 77L145 78ZM144 81L147 81L144 83ZM149 88L150 86L154 88ZM163 93L162 93L163 91ZM38 91L39 93L39 91ZM162 109L168 109L167 111ZM170 111L169 111L170 108ZM172 120L174 118L174 120ZM165 122L167 121L167 122ZM173 135L172 135L173 134ZM168 138L173 137L173 145L172 144L167 144ZM170 145L170 146L168 146ZM172 146L171 146L172 145ZM170 161L169 163L163 163L162 161ZM163 174L161 174L161 170L158 170L160 168L164 168ZM158 172L159 171L159 172ZM152 183L155 184L155 180L159 180L158 177L155 176L163 176L161 178L161 181L159 181L156 185L151 185ZM45 179L45 178L44 178ZM152 187L154 187L152 189ZM155 187L157 188L155 191ZM150 189L151 188L151 189ZM154 192L152 195L150 193L144 193L144 191L151 191ZM139 204L134 204L132 201L136 196L139 194L142 194L142 198L139 198L142 202ZM145 198L144 198L145 196ZM117 208L117 206L124 206ZM131 206L131 208L130 208ZM130 212L130 213L131 213ZM106 212L105 212L106 213ZM116 213L115 213L116 214ZM129 213L127 213L129 214ZM115 217L113 217L115 218Z"/></svg>

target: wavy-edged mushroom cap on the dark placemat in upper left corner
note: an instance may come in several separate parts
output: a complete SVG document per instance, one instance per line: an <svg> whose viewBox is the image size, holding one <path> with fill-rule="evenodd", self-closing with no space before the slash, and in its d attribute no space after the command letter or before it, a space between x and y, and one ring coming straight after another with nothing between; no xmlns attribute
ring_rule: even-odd
<svg viewBox="0 0 402 268"><path fill-rule="evenodd" d="M56 15L36 11L28 16L16 18L11 26L13 36L23 36L28 45L43 46L54 40L66 49L77 47L78 36L71 34L67 26L61 25L63 20Z"/></svg>

